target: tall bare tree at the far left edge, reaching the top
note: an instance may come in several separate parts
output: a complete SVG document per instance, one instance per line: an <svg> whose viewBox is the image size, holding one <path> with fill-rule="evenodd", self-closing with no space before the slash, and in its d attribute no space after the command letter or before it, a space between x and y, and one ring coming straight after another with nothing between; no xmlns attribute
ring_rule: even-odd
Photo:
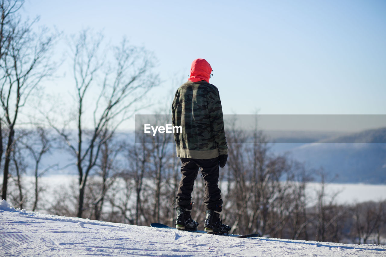
<svg viewBox="0 0 386 257"><path fill-rule="evenodd" d="M38 19L22 22L17 11L24 1L8 0L0 3L0 101L2 122L7 127L5 161L3 168L2 198L7 198L7 181L11 153L15 142L15 127L19 112L41 80L50 76L56 64L52 63L50 50L57 38L43 28L39 34L32 30ZM1 152L2 154L2 152Z"/></svg>

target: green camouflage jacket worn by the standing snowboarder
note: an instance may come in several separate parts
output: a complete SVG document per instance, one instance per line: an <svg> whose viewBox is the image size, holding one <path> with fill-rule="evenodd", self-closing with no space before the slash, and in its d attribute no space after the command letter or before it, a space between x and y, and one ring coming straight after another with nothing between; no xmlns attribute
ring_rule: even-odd
<svg viewBox="0 0 386 257"><path fill-rule="evenodd" d="M172 104L177 157L211 159L228 154L218 89L206 81L188 81L181 85Z"/></svg>

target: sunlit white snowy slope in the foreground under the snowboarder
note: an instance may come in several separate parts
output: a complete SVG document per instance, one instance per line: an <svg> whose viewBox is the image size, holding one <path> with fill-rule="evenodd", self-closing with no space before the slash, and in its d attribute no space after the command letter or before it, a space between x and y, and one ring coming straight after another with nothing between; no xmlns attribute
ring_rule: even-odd
<svg viewBox="0 0 386 257"><path fill-rule="evenodd" d="M0 256L386 256L386 245L230 238L15 210L0 202Z"/></svg>

